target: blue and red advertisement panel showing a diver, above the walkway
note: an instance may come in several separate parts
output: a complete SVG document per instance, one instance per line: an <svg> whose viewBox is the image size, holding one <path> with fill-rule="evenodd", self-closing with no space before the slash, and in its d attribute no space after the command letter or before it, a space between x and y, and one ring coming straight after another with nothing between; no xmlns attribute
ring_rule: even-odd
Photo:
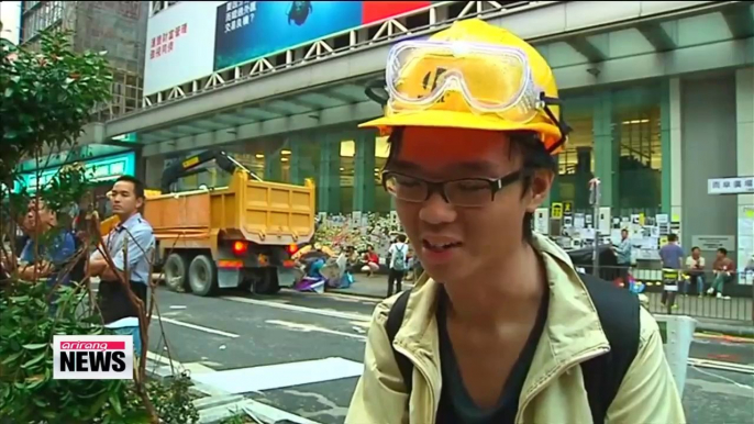
<svg viewBox="0 0 754 424"><path fill-rule="evenodd" d="M429 5L429 1L229 1L217 9L214 70Z"/></svg>

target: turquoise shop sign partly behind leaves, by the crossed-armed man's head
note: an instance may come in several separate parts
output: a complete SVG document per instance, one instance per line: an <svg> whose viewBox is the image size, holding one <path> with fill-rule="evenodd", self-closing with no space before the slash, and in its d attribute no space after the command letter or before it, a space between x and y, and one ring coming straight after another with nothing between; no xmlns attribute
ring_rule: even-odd
<svg viewBox="0 0 754 424"><path fill-rule="evenodd" d="M85 161L87 171L91 171L92 182L114 180L120 176L136 174L136 154L125 153L114 156L104 156L93 158ZM30 192L36 190L37 177L38 187L47 185L55 176L60 167L45 169L42 172L22 174L22 186L26 187ZM38 174L38 175L37 175Z"/></svg>

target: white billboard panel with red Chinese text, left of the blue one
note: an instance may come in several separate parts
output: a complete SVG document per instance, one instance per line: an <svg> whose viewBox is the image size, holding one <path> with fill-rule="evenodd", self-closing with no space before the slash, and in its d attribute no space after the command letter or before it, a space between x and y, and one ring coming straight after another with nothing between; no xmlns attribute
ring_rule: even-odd
<svg viewBox="0 0 754 424"><path fill-rule="evenodd" d="M212 74L214 16L224 1L181 1L149 18L144 94Z"/></svg>

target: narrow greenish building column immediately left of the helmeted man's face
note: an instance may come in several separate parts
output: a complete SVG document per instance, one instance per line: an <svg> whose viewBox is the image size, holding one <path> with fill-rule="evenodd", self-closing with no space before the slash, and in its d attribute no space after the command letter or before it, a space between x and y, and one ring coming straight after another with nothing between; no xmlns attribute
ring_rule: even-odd
<svg viewBox="0 0 754 424"><path fill-rule="evenodd" d="M375 209L375 135L370 131L362 131L354 141L354 211L368 213Z"/></svg>

